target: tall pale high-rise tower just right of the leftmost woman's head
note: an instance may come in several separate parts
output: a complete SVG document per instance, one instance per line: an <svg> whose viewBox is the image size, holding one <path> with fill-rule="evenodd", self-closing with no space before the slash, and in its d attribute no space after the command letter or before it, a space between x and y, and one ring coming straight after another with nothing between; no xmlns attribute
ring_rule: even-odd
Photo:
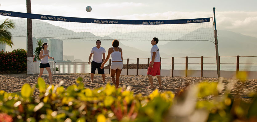
<svg viewBox="0 0 257 122"><path fill-rule="evenodd" d="M50 57L54 57L54 61L63 60L63 41L59 39L49 39L48 50L50 51ZM53 59L49 59L53 61Z"/></svg>

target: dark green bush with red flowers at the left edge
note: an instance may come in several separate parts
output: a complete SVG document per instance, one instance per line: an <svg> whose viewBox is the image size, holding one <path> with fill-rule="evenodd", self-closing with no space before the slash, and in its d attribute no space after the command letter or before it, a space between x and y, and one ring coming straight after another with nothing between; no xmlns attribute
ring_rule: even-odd
<svg viewBox="0 0 257 122"><path fill-rule="evenodd" d="M12 52L0 52L0 72L27 71L27 51L15 49Z"/></svg>

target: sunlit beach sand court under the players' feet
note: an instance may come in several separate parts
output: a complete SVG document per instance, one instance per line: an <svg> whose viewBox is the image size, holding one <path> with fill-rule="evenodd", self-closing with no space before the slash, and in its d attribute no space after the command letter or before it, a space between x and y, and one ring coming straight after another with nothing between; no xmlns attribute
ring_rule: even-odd
<svg viewBox="0 0 257 122"><path fill-rule="evenodd" d="M22 85L29 83L31 86L36 84L38 74L0 74L0 90L4 90L9 93L20 92ZM83 83L85 88L99 88L104 87L106 83L103 83L102 76L100 74L94 75L94 83L91 82L90 74L62 74L52 75L53 83L58 84L60 81L64 81L63 86L67 88L73 84L76 84L75 80L78 77L83 78ZM49 76L43 74L42 78L46 81L47 84L50 84ZM113 85L110 75L105 74L106 82L109 82ZM218 81L218 78L195 78L195 77L162 77L163 89L158 89L159 83L156 77L153 77L153 83L155 88L148 89L150 86L147 76L120 76L119 87L123 85L131 86L134 94L141 93L143 96L149 95L155 89L158 89L159 92L172 91L175 95L178 94L179 90L187 88L189 85L199 83L201 81ZM229 79L223 79L223 82L227 84ZM257 79L248 79L245 82L237 82L234 88L231 91L233 98L242 98L248 100L248 94L250 92L257 91ZM34 95L38 95L38 90L34 91Z"/></svg>

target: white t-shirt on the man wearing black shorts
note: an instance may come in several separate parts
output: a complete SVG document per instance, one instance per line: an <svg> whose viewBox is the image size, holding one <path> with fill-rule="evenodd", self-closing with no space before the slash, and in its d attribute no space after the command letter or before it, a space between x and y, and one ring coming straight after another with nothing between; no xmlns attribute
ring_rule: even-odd
<svg viewBox="0 0 257 122"><path fill-rule="evenodd" d="M102 54L105 52L105 49L102 47L99 49L97 47L92 48L91 53L93 53L93 61L96 63L102 63Z"/></svg>

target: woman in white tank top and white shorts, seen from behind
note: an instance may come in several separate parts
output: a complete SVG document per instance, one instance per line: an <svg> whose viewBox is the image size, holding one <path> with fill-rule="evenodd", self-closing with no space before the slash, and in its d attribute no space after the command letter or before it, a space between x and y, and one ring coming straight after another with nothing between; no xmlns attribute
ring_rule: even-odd
<svg viewBox="0 0 257 122"><path fill-rule="evenodd" d="M110 69L110 76L113 84L118 88L119 86L119 77L123 67L123 58L122 58L122 49L119 48L119 41L113 40L112 41L112 48L109 48L108 55L105 61L102 63L101 69L104 67L104 64L109 60L111 56L111 69ZM114 78L116 73L116 78Z"/></svg>

